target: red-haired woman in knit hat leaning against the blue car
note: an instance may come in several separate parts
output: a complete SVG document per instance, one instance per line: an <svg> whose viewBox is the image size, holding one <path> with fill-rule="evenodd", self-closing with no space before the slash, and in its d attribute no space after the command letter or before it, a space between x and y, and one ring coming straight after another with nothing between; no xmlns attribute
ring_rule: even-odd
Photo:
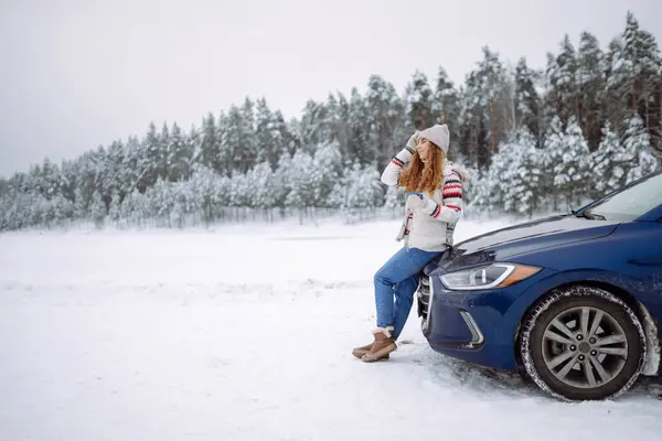
<svg viewBox="0 0 662 441"><path fill-rule="evenodd" d="M395 341L409 316L418 275L452 245L467 174L448 162L448 144L446 125L417 131L382 173L383 183L406 192L406 216L396 237L404 247L375 273L374 341L352 351L363 362L387 359L397 348Z"/></svg>

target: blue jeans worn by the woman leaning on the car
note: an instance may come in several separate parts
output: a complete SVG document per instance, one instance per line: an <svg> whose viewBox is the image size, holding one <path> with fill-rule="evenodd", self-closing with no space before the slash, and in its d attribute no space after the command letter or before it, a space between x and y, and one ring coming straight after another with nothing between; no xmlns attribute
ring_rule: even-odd
<svg viewBox="0 0 662 441"><path fill-rule="evenodd" d="M377 326L393 326L394 340L405 327L412 311L420 271L442 252L403 247L375 273Z"/></svg>

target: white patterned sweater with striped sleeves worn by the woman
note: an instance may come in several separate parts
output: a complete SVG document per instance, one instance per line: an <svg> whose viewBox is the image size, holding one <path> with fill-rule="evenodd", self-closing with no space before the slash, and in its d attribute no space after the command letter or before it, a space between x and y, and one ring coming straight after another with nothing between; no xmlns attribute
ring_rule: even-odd
<svg viewBox="0 0 662 441"><path fill-rule="evenodd" d="M397 186L397 179L414 154L408 148L398 152L382 173L382 182ZM444 163L444 184L434 193L423 193L425 205L420 208L405 207L405 218L396 240L405 246L425 251L444 251L452 245L455 226L459 220L462 203L462 181L467 173L448 161Z"/></svg>

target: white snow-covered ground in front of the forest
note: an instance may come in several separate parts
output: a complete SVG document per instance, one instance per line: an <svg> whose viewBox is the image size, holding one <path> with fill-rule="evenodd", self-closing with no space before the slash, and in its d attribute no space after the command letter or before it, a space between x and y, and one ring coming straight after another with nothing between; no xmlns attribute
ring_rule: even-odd
<svg viewBox="0 0 662 441"><path fill-rule="evenodd" d="M433 352L415 309L354 358L397 227L0 235L0 440L660 440L642 387L558 402Z"/></svg>

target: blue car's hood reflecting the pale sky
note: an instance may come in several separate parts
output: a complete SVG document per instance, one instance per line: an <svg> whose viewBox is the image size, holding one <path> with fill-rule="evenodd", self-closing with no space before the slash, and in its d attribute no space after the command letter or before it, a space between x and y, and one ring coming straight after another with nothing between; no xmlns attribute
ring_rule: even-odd
<svg viewBox="0 0 662 441"><path fill-rule="evenodd" d="M545 217L496 229L455 245L438 265L446 271L504 261L516 255L611 234L613 220L591 220L572 215Z"/></svg>

